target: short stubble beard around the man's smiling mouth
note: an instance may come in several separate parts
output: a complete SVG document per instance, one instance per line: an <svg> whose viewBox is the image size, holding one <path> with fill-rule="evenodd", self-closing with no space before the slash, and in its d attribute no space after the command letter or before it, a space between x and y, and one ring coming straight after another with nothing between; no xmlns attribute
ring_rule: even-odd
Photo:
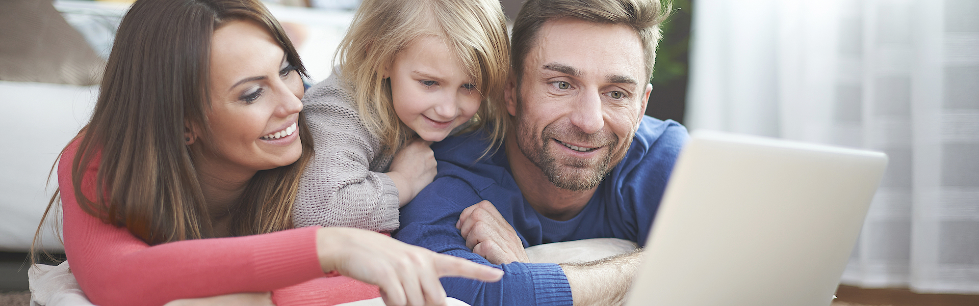
<svg viewBox="0 0 979 306"><path fill-rule="evenodd" d="M519 91L518 91L519 92ZM519 94L517 96L520 96ZM517 98L519 106L523 101ZM615 164L622 160L623 154L616 154L619 139L615 134L600 130L596 134L587 134L574 126L558 127L545 126L540 135L535 133L536 126L526 122L524 116L517 116L517 147L520 152L531 160L543 172L547 180L555 187L573 192L583 192L594 189L612 171ZM603 133L604 134L600 134ZM551 139L563 141L582 141L587 144L599 144L606 150L600 158L581 159L571 158L560 162L548 144ZM619 155L613 163L613 159Z"/></svg>

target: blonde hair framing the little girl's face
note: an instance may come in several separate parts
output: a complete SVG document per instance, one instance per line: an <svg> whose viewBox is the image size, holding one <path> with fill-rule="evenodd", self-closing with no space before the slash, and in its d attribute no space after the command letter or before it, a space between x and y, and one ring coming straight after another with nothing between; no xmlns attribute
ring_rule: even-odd
<svg viewBox="0 0 979 306"><path fill-rule="evenodd" d="M502 98L510 41L497 0L363 1L336 58L353 86L364 123L381 138L385 153L396 153L413 138L414 132L395 113L391 82L381 71L425 35L442 38L477 85L482 101L470 128L488 128L489 153L506 135L508 124Z"/></svg>

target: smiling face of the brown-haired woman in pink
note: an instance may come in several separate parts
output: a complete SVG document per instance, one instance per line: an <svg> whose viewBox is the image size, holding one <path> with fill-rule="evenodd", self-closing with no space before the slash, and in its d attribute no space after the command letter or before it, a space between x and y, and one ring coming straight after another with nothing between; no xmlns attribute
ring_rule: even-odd
<svg viewBox="0 0 979 306"><path fill-rule="evenodd" d="M298 120L303 81L264 27L229 22L210 50L210 135L203 158L218 169L257 171L291 164L303 153Z"/></svg>

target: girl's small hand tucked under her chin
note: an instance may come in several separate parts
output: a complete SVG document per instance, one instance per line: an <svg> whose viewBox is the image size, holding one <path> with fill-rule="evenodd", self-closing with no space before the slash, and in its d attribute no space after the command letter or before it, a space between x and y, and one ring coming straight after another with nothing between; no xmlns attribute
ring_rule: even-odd
<svg viewBox="0 0 979 306"><path fill-rule="evenodd" d="M438 172L432 142L416 139L395 154L388 176L397 187L398 207L404 206L432 183Z"/></svg>

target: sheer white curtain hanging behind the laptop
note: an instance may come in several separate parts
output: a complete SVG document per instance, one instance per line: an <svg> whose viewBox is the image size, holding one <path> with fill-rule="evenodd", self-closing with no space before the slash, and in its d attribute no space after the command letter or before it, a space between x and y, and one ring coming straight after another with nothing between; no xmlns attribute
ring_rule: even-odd
<svg viewBox="0 0 979 306"><path fill-rule="evenodd" d="M868 148L843 277L979 293L979 0L697 0L687 126Z"/></svg>

